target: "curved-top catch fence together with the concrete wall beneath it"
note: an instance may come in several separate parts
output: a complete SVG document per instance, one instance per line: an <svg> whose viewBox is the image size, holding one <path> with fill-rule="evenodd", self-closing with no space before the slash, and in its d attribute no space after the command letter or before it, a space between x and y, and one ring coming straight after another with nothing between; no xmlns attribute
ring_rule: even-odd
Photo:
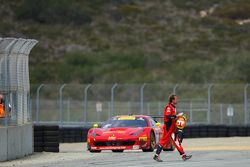
<svg viewBox="0 0 250 167"><path fill-rule="evenodd" d="M28 56L36 43L0 38L0 161L33 153Z"/></svg>

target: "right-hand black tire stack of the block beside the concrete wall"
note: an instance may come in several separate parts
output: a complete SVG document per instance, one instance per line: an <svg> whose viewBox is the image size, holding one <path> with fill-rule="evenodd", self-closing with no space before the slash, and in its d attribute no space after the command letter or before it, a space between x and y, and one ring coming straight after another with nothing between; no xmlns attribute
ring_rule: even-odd
<svg viewBox="0 0 250 167"><path fill-rule="evenodd" d="M59 152L59 126L44 126L44 145L45 152Z"/></svg>

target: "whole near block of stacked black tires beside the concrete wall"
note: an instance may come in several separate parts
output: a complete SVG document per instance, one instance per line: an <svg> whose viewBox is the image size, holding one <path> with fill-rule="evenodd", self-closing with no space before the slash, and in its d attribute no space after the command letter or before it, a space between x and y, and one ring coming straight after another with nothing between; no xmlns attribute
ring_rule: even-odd
<svg viewBox="0 0 250 167"><path fill-rule="evenodd" d="M34 125L34 152L59 152L59 126Z"/></svg>

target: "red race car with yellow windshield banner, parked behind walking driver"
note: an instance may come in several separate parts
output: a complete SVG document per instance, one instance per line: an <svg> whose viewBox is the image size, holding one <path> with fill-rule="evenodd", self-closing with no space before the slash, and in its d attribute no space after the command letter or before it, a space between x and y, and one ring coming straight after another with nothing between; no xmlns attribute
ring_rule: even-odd
<svg viewBox="0 0 250 167"><path fill-rule="evenodd" d="M105 122L101 128L88 131L87 147L90 152L112 150L139 150L153 152L163 134L163 125L156 123L151 116L120 115ZM172 143L164 146L164 151L174 150Z"/></svg>

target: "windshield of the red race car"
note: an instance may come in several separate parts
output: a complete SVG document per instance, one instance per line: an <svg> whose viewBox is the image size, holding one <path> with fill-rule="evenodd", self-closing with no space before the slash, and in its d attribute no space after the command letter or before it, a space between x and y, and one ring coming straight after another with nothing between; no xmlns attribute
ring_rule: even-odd
<svg viewBox="0 0 250 167"><path fill-rule="evenodd" d="M147 127L145 119L137 120L109 120L102 128L115 128L115 127Z"/></svg>

